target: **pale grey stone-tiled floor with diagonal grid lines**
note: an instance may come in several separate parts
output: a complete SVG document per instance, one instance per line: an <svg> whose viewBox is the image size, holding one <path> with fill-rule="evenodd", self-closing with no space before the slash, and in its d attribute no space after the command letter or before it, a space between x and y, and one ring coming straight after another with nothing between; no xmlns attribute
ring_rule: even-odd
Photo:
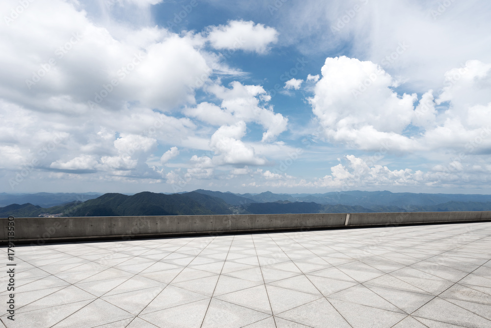
<svg viewBox="0 0 491 328"><path fill-rule="evenodd" d="M16 255L15 321L1 270L6 327L491 327L491 223L46 244Z"/></svg>

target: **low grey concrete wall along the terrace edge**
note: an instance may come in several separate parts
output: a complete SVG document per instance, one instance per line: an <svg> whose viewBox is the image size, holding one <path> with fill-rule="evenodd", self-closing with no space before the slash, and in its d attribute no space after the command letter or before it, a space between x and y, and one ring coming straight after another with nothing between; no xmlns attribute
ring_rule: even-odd
<svg viewBox="0 0 491 328"><path fill-rule="evenodd" d="M2 218L1 243L7 240ZM491 220L491 211L15 218L14 242L132 239L220 233Z"/></svg>

